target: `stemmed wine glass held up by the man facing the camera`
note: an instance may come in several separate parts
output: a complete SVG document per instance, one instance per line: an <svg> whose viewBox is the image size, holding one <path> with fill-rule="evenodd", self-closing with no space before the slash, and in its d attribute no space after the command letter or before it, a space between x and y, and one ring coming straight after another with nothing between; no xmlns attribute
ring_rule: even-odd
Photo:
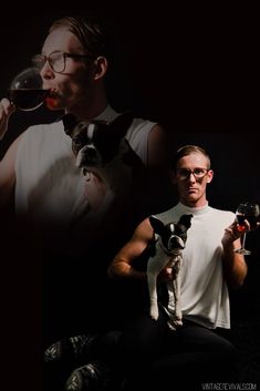
<svg viewBox="0 0 260 391"><path fill-rule="evenodd" d="M239 204L236 210L236 220L238 223L238 230L245 230L245 220L247 219L250 224L250 230L257 227L258 218L259 218L259 205L253 203L243 203ZM242 235L242 246L241 248L235 249L235 253L242 255L250 255L251 251L245 248L247 234Z"/></svg>

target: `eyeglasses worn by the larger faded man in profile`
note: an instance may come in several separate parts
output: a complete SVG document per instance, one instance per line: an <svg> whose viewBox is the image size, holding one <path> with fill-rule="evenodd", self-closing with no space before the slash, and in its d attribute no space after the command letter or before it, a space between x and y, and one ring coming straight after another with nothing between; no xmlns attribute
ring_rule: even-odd
<svg viewBox="0 0 260 391"><path fill-rule="evenodd" d="M61 51L54 51L49 55L45 54L35 54L32 58L32 63L35 68L41 70L46 61L49 62L51 69L56 72L56 73L62 73L64 72L66 68L66 58L72 58L72 59L84 59L84 58L91 58L91 55L87 54L74 54L74 53L64 53Z"/></svg>

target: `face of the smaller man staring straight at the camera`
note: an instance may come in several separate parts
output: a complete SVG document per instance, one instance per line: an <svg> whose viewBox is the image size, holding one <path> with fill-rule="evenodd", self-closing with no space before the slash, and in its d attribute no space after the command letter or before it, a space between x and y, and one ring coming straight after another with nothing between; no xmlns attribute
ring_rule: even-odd
<svg viewBox="0 0 260 391"><path fill-rule="evenodd" d="M206 204L206 187L214 176L208 165L207 157L200 153L191 153L178 161L173 182L183 204L191 207Z"/></svg>

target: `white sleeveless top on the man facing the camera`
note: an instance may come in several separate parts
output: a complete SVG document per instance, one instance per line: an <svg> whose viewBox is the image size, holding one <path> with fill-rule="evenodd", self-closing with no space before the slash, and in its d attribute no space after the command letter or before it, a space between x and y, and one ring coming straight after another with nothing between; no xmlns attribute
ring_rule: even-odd
<svg viewBox="0 0 260 391"><path fill-rule="evenodd" d="M222 275L221 238L235 220L232 212L206 205L190 208L181 203L157 217L165 224L177 222L183 214L193 214L187 231L180 267L180 303L183 317L208 328L230 328L227 284ZM170 311L170 308L169 308Z"/></svg>

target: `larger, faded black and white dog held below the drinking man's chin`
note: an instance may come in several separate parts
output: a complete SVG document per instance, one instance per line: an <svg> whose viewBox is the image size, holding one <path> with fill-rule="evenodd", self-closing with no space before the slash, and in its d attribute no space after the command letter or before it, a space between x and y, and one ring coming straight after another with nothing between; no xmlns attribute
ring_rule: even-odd
<svg viewBox="0 0 260 391"><path fill-rule="evenodd" d="M113 122L77 122L71 114L63 117L65 133L72 138L76 166L86 181L93 173L106 185L106 199L125 197L132 185L133 169L143 166L124 137L133 119L132 112L117 116Z"/></svg>

